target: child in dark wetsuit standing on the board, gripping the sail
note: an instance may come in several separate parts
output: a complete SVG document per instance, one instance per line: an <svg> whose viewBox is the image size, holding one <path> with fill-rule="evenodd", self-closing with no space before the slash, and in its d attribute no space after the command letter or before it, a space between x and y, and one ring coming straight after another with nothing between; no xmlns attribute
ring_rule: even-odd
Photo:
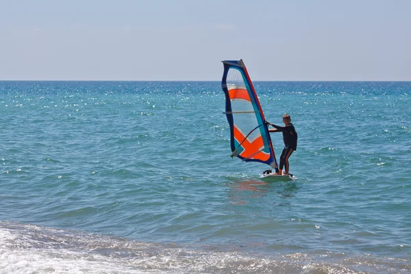
<svg viewBox="0 0 411 274"><path fill-rule="evenodd" d="M283 123L285 127L280 127L279 125L274 125L272 123L269 123L269 125L272 125L275 127L275 129L269 129L269 132L282 132L283 133L283 140L284 140L284 149L281 153L281 156L279 157L279 172L278 175L283 175L282 169L285 166L286 171L284 172L284 175L289 175L288 170L290 168L290 165L288 164L288 158L290 158L290 155L293 151L297 150L297 132L295 131L294 125L291 123L291 117L288 114L284 114L282 116L283 118Z"/></svg>

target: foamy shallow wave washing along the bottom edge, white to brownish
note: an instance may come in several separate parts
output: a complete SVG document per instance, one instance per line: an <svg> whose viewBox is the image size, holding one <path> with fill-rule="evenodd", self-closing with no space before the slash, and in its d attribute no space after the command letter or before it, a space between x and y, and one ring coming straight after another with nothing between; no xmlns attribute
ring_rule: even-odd
<svg viewBox="0 0 411 274"><path fill-rule="evenodd" d="M0 221L0 273L399 273L408 260L325 250L175 245ZM282 247L283 249L284 247ZM298 247L299 249L299 247Z"/></svg>

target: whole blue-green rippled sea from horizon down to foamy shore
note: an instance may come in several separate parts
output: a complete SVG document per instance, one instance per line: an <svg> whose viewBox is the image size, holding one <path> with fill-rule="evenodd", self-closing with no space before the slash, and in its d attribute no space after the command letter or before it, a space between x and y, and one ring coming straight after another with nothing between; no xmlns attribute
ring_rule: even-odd
<svg viewBox="0 0 411 274"><path fill-rule="evenodd" d="M0 273L411 273L411 82L254 86L295 182L220 82L0 82Z"/></svg>

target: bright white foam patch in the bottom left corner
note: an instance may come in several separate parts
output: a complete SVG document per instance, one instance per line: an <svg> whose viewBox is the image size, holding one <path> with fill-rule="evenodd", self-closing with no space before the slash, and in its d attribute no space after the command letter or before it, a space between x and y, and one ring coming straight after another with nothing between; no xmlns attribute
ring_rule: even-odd
<svg viewBox="0 0 411 274"><path fill-rule="evenodd" d="M27 228L28 226L26 226ZM14 230L0 230L0 274L10 273L147 273L88 251L36 247L38 241Z"/></svg>

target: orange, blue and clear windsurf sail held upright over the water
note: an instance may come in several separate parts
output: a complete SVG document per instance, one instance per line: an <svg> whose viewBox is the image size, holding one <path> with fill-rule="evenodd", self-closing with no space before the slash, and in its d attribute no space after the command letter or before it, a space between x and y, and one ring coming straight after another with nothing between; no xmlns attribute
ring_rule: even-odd
<svg viewBox="0 0 411 274"><path fill-rule="evenodd" d="M277 169L269 129L244 62L223 61L223 64L221 88L225 94L224 113L230 129L231 156Z"/></svg>

